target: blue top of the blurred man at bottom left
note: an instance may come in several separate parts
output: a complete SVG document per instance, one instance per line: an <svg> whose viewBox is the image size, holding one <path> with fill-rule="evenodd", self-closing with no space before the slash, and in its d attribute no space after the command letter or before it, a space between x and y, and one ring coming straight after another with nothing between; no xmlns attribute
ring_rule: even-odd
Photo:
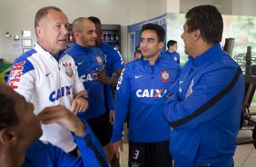
<svg viewBox="0 0 256 167"><path fill-rule="evenodd" d="M84 124L86 133L83 137L77 137L73 134L74 142L77 144L81 157L74 157L50 142L41 142L38 140L27 150L25 164L23 166L109 166L100 142L95 138L89 125L85 122Z"/></svg>

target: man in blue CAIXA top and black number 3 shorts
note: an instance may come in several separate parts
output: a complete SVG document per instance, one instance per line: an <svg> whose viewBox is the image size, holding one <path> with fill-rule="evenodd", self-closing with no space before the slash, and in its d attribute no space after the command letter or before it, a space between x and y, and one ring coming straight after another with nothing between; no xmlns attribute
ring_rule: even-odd
<svg viewBox="0 0 256 167"><path fill-rule="evenodd" d="M163 103L181 67L160 56L164 35L160 25L143 25L143 57L126 64L117 83L113 151L119 156L123 123L129 112L129 166L172 166L168 151L171 128L163 118Z"/></svg>

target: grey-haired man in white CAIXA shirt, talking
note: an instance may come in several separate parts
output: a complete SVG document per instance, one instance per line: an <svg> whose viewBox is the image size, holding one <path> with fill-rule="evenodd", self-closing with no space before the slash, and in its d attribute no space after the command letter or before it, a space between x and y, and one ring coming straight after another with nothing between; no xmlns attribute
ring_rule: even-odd
<svg viewBox="0 0 256 167"><path fill-rule="evenodd" d="M64 105L72 113L84 113L88 94L80 81L74 59L64 53L67 16L54 6L39 9L34 17L37 44L14 62L8 85L34 103L34 113L45 107ZM77 155L71 134L60 124L43 124L41 140L52 142Z"/></svg>

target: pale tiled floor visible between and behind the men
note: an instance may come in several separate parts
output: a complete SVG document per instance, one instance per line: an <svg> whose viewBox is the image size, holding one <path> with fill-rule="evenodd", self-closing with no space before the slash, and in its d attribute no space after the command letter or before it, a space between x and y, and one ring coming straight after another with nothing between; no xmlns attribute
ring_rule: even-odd
<svg viewBox="0 0 256 167"><path fill-rule="evenodd" d="M251 137L251 131L241 131L239 137ZM128 166L128 143L123 143L122 167ZM256 150L253 144L238 145L234 155L235 167L256 167Z"/></svg>

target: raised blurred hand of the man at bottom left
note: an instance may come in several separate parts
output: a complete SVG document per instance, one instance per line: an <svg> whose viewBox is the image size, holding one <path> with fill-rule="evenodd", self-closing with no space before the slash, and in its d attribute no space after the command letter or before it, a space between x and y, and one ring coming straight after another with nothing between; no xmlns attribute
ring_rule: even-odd
<svg viewBox="0 0 256 167"><path fill-rule="evenodd" d="M84 123L63 105L46 107L37 115L37 118L44 124L59 123L78 137L85 135Z"/></svg>

